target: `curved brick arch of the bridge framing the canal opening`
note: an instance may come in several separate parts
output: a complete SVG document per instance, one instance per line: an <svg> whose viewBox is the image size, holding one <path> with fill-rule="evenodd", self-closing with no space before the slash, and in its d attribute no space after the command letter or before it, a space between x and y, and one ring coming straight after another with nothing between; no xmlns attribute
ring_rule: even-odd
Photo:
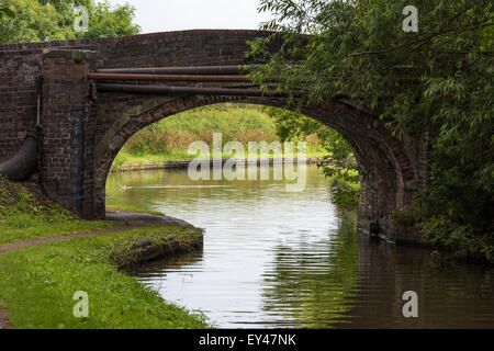
<svg viewBox="0 0 494 351"><path fill-rule="evenodd" d="M125 143L137 132L162 118L188 110L225 102L261 104L282 109L285 98L277 97L139 97L104 93L97 107L97 121L112 121L96 145L94 206L105 213L105 184L112 162ZM108 100L106 100L108 99ZM416 174L403 143L392 137L375 116L343 102L308 105L302 112L339 132L357 158L361 180L359 226L369 229L379 223L385 230L389 214L406 207L415 190ZM100 129L100 128L99 128Z"/></svg>

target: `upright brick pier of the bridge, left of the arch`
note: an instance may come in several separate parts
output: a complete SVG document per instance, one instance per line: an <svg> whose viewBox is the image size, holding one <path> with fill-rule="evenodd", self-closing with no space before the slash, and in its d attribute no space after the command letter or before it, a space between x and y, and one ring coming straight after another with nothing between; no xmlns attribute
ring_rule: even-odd
<svg viewBox="0 0 494 351"><path fill-rule="evenodd" d="M96 53L43 53L40 179L47 194L82 218L94 218L94 134L91 86Z"/></svg>

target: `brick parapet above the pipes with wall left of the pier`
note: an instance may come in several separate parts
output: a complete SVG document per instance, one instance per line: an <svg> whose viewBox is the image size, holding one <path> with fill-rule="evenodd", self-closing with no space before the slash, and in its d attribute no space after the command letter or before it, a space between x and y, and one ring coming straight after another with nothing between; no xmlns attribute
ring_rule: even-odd
<svg viewBox="0 0 494 351"><path fill-rule="evenodd" d="M119 38L0 45L0 161L13 155L36 124L43 49L97 52L100 68L235 65L257 31L184 31Z"/></svg>

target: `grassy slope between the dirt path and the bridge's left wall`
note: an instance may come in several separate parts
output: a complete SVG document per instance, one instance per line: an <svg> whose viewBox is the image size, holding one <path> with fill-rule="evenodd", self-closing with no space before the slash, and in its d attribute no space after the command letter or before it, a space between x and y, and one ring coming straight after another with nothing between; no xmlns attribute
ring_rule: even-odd
<svg viewBox="0 0 494 351"><path fill-rule="evenodd" d="M112 226L115 224L80 220L58 205L41 204L24 185L0 178L0 246Z"/></svg>

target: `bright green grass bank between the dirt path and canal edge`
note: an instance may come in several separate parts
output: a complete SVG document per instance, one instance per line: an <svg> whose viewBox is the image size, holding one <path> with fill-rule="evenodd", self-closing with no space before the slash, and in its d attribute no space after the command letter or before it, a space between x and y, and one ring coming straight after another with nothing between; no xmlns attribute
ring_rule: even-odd
<svg viewBox="0 0 494 351"><path fill-rule="evenodd" d="M15 328L206 328L203 315L165 303L116 269L138 239L187 250L202 230L168 225L24 248L0 256L0 305ZM76 318L76 292L89 295L89 317Z"/></svg>

